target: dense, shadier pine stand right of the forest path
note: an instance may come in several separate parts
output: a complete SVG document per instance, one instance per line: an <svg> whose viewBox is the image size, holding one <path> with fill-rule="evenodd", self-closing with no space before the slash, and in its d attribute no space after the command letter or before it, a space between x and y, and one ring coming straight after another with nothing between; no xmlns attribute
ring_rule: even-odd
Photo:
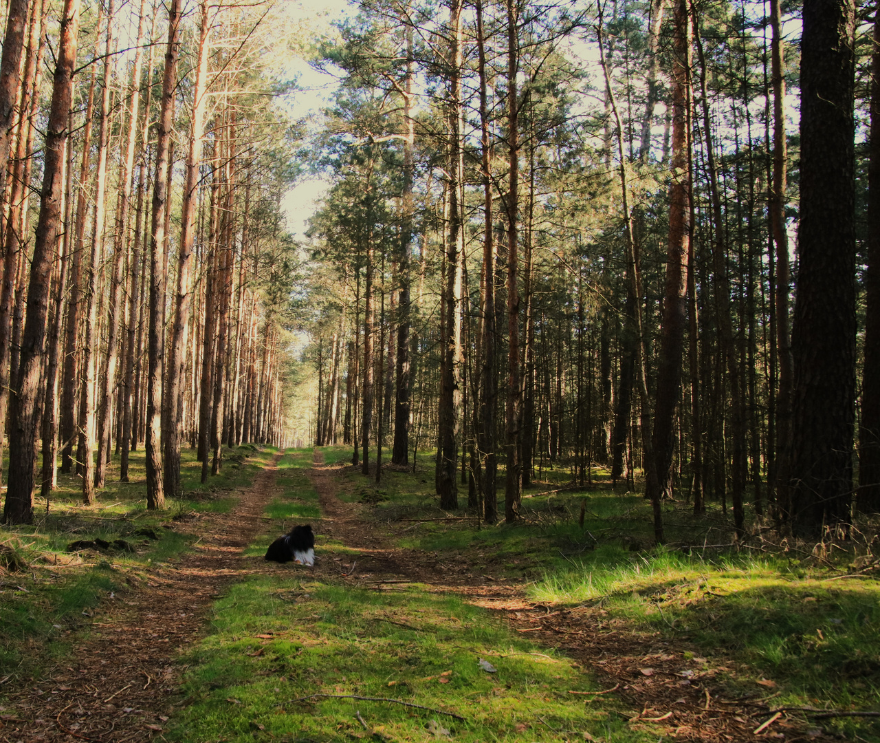
<svg viewBox="0 0 880 743"><path fill-rule="evenodd" d="M632 487L642 469L658 540L661 501L675 493L693 496L698 514L707 501L732 505L739 538L750 516L770 514L783 532L810 535L846 522L862 205L852 191L857 169L845 164L857 154L854 34L866 29L856 29L846 4L805 6L801 94L812 99L803 99L798 141L785 129L779 4L766 18L722 2L594 10L368 4L326 50L327 60L343 61L347 115L375 110L378 99L385 113L369 131L331 123L322 157L369 148L386 173L370 184L370 203L383 204L390 221L370 219L368 229L400 237L377 233L368 261L363 235L341 232L334 198L313 221L326 269L346 287L331 300L334 350L318 361L323 420L331 407L363 404L358 394L382 394L364 349L391 338L403 317L373 313L376 276L365 304L366 272L384 256L398 271L391 276L412 276L390 284L392 305L405 305L407 327L414 323L406 432L414 449L436 452L443 507L457 507L458 480L468 504L495 520L500 462L505 517L516 519L520 490L552 462L582 484L607 467ZM583 43L585 27L600 32L586 43L598 40L602 70L592 52L567 46ZM828 35L838 28L847 38ZM820 48L835 49L835 61ZM813 127L837 132L833 156L811 149ZM798 155L801 171L789 183ZM811 179L827 187L834 168L836 201L823 187L811 201ZM334 189L353 176L327 172ZM409 247L401 255L392 245ZM813 271L840 283L819 289ZM400 343L396 350L407 358ZM360 361L346 363L352 352ZM332 381L338 369L347 381ZM871 388L866 382L864 406ZM347 412L345 421L354 418ZM363 448L378 423L362 415L360 426ZM400 419L395 429L402 435ZM321 431L328 440L326 425ZM872 431L862 429L861 445L868 509ZM394 461L405 461L400 448Z"/></svg>

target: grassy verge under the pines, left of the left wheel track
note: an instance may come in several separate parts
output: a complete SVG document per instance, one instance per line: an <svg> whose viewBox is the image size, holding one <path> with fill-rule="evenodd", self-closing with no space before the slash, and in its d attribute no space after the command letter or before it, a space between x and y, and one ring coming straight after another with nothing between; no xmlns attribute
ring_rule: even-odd
<svg viewBox="0 0 880 743"><path fill-rule="evenodd" d="M62 656L92 607L139 582L151 566L177 559L194 539L187 532L191 515L228 511L235 490L271 456L239 447L226 454L222 474L202 485L201 465L185 450L182 494L167 499L164 511L146 509L143 451L131 453L131 482L118 482L118 465L109 467L107 486L91 506L81 503L74 475L59 475L48 514L38 499L33 525L0 528L0 679L33 675Z"/></svg>

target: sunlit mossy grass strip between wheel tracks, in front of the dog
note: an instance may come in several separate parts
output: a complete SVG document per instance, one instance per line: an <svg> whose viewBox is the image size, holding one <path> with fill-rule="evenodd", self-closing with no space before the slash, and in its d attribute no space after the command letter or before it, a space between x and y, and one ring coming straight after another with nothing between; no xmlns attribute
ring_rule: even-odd
<svg viewBox="0 0 880 743"><path fill-rule="evenodd" d="M480 669L484 658L497 673ZM515 636L487 612L424 586L376 592L310 581L294 570L236 585L213 633L189 658L188 704L170 740L559 740L583 733L642 740L631 714L568 690L596 687L581 669ZM395 703L313 694L400 699ZM445 712L452 712L459 720ZM648 739L646 736L643 738Z"/></svg>

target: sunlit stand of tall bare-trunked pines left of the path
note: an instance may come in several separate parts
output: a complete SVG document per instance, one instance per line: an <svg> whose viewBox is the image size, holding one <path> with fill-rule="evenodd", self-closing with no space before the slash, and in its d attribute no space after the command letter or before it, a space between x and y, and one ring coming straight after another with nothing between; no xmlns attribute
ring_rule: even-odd
<svg viewBox="0 0 880 743"><path fill-rule="evenodd" d="M114 450L128 480L128 452L146 440L148 505L162 507L180 489L180 445L194 444L200 426L216 434L214 452L202 457L215 472L218 441L282 444L287 436L282 310L292 276L278 267L297 258L278 229L278 194L290 177L291 140L261 95L270 85L262 77L265 34L283 14L205 0L193 18L184 18L180 2L163 17L145 1L116 7L103 0L80 11L66 0L43 111L41 60L55 34L47 11L48 4L12 0L0 62L0 148L15 155L0 189L7 196L0 417L11 447L9 523L33 518L40 439L42 496L54 484L60 449L62 471L76 466L86 502L104 486ZM161 86L152 52L159 28L168 38ZM121 48L123 39L133 46ZM77 60L77 48L91 51ZM182 74L178 58L187 61ZM40 117L48 121L45 141ZM182 178L175 130L189 132ZM209 164L201 154L206 137L216 154ZM38 175L34 218L27 196ZM177 244L178 260L170 261ZM173 297L166 283L176 287ZM196 413L204 373L208 423Z"/></svg>

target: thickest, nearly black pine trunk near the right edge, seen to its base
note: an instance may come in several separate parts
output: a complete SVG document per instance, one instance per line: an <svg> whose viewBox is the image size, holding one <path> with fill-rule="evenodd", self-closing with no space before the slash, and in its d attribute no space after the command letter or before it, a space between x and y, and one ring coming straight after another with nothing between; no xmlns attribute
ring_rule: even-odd
<svg viewBox="0 0 880 743"><path fill-rule="evenodd" d="M788 482L796 535L849 519L855 396L853 0L806 0Z"/></svg>

